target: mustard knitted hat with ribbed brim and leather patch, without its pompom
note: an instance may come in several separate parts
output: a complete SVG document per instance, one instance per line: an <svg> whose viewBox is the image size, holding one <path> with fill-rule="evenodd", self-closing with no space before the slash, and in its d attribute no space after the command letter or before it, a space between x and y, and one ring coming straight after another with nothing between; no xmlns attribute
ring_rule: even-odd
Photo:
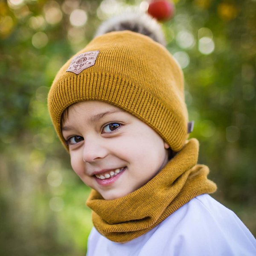
<svg viewBox="0 0 256 256"><path fill-rule="evenodd" d="M161 44L136 32L110 32L61 67L49 90L48 108L66 148L63 111L76 102L99 100L141 119L179 151L188 127L183 85L179 64Z"/></svg>

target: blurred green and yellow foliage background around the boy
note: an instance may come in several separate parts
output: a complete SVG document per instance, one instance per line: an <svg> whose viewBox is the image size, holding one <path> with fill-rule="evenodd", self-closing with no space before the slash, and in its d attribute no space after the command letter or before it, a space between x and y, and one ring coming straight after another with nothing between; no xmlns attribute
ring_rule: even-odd
<svg viewBox="0 0 256 256"><path fill-rule="evenodd" d="M213 195L256 235L256 1L176 0L163 23ZM102 20L141 0L0 1L0 255L84 255L89 189L53 131L47 92Z"/></svg>

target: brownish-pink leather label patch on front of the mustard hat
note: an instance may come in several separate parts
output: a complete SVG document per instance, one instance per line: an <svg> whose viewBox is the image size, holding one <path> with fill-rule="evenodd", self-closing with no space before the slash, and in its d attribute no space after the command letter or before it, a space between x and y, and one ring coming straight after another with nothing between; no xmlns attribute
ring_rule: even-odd
<svg viewBox="0 0 256 256"><path fill-rule="evenodd" d="M99 51L84 52L75 56L66 71L80 74L83 70L95 64Z"/></svg>

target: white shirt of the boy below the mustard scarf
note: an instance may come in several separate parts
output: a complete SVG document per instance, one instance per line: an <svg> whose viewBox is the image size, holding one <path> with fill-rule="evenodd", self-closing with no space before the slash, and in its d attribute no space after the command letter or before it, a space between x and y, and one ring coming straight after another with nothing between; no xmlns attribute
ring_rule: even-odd
<svg viewBox="0 0 256 256"><path fill-rule="evenodd" d="M87 256L256 256L256 240L234 212L204 194L180 207L157 227L115 243L94 227Z"/></svg>

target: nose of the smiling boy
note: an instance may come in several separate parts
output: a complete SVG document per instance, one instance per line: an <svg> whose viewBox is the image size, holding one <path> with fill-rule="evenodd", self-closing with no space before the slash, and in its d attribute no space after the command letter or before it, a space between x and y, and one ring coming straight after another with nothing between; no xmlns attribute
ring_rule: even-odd
<svg viewBox="0 0 256 256"><path fill-rule="evenodd" d="M102 142L96 139L86 139L84 138L83 145L83 160L84 162L91 163L100 160L108 155L107 148Z"/></svg>

